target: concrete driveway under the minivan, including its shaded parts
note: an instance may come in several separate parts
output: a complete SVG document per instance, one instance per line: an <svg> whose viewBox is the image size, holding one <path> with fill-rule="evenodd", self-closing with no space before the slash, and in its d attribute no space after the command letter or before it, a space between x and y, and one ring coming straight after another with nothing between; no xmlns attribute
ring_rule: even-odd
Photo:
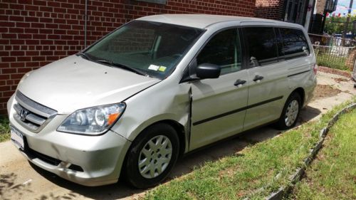
<svg viewBox="0 0 356 200"><path fill-rule="evenodd" d="M318 72L318 85L330 85L337 95L314 99L303 109L298 125L320 117L331 107L356 95L350 78ZM262 127L219 142L203 151L194 152L178 161L169 180L182 177L209 160L216 160L244 149L248 144L268 140L281 131ZM86 187L73 184L29 164L11 142L0 143L0 199L137 199L145 191L132 189L119 182L108 186Z"/></svg>

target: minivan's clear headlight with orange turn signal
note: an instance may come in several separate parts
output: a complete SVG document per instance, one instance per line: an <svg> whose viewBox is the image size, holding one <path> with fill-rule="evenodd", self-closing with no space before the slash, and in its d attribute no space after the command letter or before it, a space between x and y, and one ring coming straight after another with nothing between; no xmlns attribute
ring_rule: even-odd
<svg viewBox="0 0 356 200"><path fill-rule="evenodd" d="M59 132L100 135L115 124L125 110L125 103L102 105L77 110L58 127Z"/></svg>

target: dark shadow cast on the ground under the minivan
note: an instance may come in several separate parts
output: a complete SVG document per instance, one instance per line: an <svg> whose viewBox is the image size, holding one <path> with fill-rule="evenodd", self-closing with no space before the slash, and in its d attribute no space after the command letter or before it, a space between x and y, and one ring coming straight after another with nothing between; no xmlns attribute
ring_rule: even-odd
<svg viewBox="0 0 356 200"><path fill-rule="evenodd" d="M302 125L303 123L308 122L309 120L318 116L320 114L320 110L307 106L300 114L301 115L298 125ZM174 178L189 174L189 172L192 172L192 170L204 166L205 162L215 161L222 157L236 154L248 145L253 145L257 142L269 140L281 133L282 132L280 130L274 129L273 126L261 127L255 130L241 133L240 135L230 138L229 140L213 144L210 147L204 148L204 150L199 150L197 152L188 154L184 158L178 160L176 166L166 181L170 181ZM73 182L57 177L51 172L46 172L45 170L36 167L33 164L31 164L31 166L36 170L36 172L41 174L49 181L57 184L58 186L64 187L70 191L92 199L121 199L127 196L140 194L145 191L142 189L134 189L128 186L125 181L119 181L117 184L111 184L108 186L81 186L79 184L74 184Z"/></svg>

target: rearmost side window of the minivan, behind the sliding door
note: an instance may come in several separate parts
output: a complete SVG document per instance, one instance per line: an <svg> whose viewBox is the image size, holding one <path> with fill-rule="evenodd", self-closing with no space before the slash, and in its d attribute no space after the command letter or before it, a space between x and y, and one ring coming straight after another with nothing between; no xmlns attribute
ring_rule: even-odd
<svg viewBox="0 0 356 200"><path fill-rule="evenodd" d="M303 31L292 28L279 28L282 45L278 46L280 56L286 59L309 55L308 42Z"/></svg>

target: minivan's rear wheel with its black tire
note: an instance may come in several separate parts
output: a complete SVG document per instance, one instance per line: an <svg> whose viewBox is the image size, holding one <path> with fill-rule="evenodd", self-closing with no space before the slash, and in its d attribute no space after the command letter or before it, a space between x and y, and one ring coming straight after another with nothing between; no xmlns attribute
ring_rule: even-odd
<svg viewBox="0 0 356 200"><path fill-rule="evenodd" d="M301 98L298 93L292 93L283 107L281 117L276 123L279 130L288 130L295 126L298 121L301 108ZM298 107L296 107L298 105Z"/></svg>

